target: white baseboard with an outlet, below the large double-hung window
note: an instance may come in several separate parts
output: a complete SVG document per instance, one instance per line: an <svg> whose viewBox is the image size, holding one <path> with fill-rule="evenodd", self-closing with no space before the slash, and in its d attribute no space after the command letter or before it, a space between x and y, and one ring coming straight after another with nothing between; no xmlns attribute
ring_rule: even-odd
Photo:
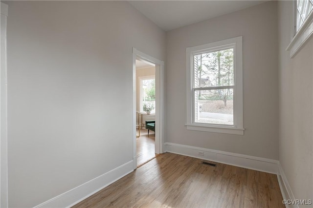
<svg viewBox="0 0 313 208"><path fill-rule="evenodd" d="M179 145L174 143L165 143L165 151L218 163L224 163L227 165L245 167L248 169L278 174L279 162L277 160L268 158L225 152L215 149L206 149L195 146ZM203 152L204 155L200 156L198 154L199 151Z"/></svg>

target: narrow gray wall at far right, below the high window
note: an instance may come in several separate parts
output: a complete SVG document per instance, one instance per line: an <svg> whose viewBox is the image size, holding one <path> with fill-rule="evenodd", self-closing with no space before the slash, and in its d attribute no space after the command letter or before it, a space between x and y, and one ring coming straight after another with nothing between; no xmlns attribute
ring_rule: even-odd
<svg viewBox="0 0 313 208"><path fill-rule="evenodd" d="M279 1L278 22L279 160L295 199L313 199L313 40L290 59L292 1Z"/></svg>

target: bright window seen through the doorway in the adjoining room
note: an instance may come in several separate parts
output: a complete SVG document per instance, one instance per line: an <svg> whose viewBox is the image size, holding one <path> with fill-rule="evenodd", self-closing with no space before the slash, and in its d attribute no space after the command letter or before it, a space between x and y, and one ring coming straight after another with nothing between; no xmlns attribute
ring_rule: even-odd
<svg viewBox="0 0 313 208"><path fill-rule="evenodd" d="M140 112L146 112L144 106L151 106L151 113L156 113L156 80L155 76L139 77Z"/></svg>

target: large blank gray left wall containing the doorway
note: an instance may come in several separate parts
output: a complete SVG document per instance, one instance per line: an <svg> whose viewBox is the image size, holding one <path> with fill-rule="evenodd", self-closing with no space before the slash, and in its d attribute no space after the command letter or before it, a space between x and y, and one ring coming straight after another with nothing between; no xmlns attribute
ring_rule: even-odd
<svg viewBox="0 0 313 208"><path fill-rule="evenodd" d="M132 47L166 36L125 1L5 3L9 206L33 207L133 159Z"/></svg>

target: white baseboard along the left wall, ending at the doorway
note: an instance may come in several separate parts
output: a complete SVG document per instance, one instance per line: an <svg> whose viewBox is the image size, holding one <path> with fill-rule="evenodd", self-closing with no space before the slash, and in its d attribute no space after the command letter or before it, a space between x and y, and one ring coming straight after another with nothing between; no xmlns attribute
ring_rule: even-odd
<svg viewBox="0 0 313 208"><path fill-rule="evenodd" d="M116 167L103 175L37 205L35 208L67 208L76 205L102 188L109 186L118 179L134 171L133 163L134 161L130 161Z"/></svg>

